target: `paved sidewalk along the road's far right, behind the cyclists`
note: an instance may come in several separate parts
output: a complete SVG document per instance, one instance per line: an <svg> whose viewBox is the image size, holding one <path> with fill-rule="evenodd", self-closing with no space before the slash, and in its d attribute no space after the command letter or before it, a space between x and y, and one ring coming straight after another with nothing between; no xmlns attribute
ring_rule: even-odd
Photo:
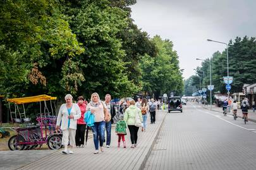
<svg viewBox="0 0 256 170"><path fill-rule="evenodd" d="M197 105L199 105L199 104L197 103ZM205 109L210 110L210 105L200 105L200 106L202 106ZM217 111L217 112L223 113L222 107L220 108L220 107L217 107L214 105L212 105L212 111ZM228 112L228 114L233 115L232 110L230 110L230 112ZM237 116L240 118L243 116L243 113L241 113L241 109L238 109ZM253 112L252 110L248 110L248 120L250 120L252 122L256 122L256 112Z"/></svg>

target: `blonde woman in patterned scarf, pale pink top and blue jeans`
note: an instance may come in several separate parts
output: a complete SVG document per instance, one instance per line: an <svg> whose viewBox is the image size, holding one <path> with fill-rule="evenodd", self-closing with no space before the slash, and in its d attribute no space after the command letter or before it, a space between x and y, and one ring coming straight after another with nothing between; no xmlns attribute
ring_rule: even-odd
<svg viewBox="0 0 256 170"><path fill-rule="evenodd" d="M101 152L103 152L104 132L107 120L107 106L101 101L98 93L92 93L90 103L88 103L86 111L90 111L95 116L95 123L92 126L94 133L94 154L99 154L99 144Z"/></svg>

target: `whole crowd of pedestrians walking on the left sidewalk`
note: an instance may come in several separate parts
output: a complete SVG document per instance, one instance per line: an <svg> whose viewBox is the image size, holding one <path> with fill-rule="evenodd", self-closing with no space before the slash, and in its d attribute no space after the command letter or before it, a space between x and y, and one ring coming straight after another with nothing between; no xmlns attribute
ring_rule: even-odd
<svg viewBox="0 0 256 170"><path fill-rule="evenodd" d="M110 94L106 94L105 100L101 101L97 93L92 93L90 102L85 101L83 96L79 96L77 103L74 103L71 94L66 94L64 99L66 103L59 108L56 123L56 130L63 132L63 154L73 154L73 147L85 147L89 129L92 130L94 137L94 154L98 154L99 150L104 152L104 142L107 148L111 146L111 125L113 123L116 123L115 133L118 135L118 147L122 140L123 147L126 148L125 135L127 134L126 128L128 128L131 148L135 148L139 128L141 127L142 132L146 131L148 115L150 115L150 123L154 124L156 110L161 106L160 101L154 101L154 99L147 101L145 98L138 98L136 103L134 99L128 99L115 104L111 102Z"/></svg>

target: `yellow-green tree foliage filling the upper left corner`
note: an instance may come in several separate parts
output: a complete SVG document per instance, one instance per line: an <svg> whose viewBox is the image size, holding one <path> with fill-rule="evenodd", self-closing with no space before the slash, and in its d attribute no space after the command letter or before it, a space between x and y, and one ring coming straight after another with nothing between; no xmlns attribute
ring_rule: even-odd
<svg viewBox="0 0 256 170"><path fill-rule="evenodd" d="M39 93L49 93L42 86L56 80L56 88L59 88L58 80L61 77L51 80L51 77L45 76L46 84L41 85L32 84L36 81L29 79L34 64L39 64L37 72L43 73L44 77L49 72L52 74L52 69L47 69L52 62L63 60L65 56L74 57L84 51L61 14L59 2L1 1L0 6L0 63L9 62L1 69L7 75L0 82L1 92L4 91L7 96L22 96L34 94L31 89L37 88L43 89ZM59 67L61 70L62 64Z"/></svg>

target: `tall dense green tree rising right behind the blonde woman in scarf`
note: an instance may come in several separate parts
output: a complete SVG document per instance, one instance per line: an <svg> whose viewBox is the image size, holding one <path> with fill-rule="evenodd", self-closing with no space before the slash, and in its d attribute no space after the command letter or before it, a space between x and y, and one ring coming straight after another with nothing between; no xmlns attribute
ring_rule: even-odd
<svg viewBox="0 0 256 170"><path fill-rule="evenodd" d="M101 96L130 96L138 88L128 80L126 65L118 35L128 26L127 13L109 6L108 1L66 2L65 13L70 17L71 29L86 51L80 55L85 79L79 93L90 97L97 91Z"/></svg>

